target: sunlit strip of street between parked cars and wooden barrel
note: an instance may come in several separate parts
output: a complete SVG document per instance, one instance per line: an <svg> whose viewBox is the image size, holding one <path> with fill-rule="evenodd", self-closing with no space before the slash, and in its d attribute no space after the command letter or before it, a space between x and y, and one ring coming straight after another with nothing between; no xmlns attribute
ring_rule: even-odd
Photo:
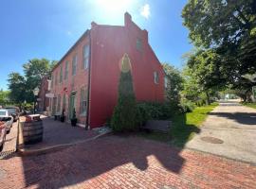
<svg viewBox="0 0 256 189"><path fill-rule="evenodd" d="M14 122L12 124L12 128L7 134L5 146L0 154L0 159L9 153L16 151L16 144L17 144L17 134L18 134L18 122Z"/></svg>

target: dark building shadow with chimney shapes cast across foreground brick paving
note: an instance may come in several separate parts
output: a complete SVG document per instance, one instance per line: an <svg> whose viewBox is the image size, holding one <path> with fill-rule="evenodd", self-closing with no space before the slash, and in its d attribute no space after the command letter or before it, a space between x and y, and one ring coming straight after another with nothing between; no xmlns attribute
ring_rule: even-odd
<svg viewBox="0 0 256 189"><path fill-rule="evenodd" d="M56 153L22 157L26 187L60 188L101 175L105 175L106 180L113 180L109 173L113 169L125 179L137 169L157 168L155 163L158 162L168 171L179 174L186 162L179 154L192 132L200 131L195 126L186 125L185 116L182 119L182 126L176 130L183 132L180 148L133 135L111 135Z"/></svg>

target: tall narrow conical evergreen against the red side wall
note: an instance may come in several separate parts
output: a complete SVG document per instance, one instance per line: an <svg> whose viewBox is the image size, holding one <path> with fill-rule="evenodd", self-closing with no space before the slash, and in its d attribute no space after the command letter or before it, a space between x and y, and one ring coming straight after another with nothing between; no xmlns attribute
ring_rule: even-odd
<svg viewBox="0 0 256 189"><path fill-rule="evenodd" d="M114 131L135 130L137 103L134 94L131 64L127 54L122 58L121 73L119 78L119 99L115 107L111 128Z"/></svg>

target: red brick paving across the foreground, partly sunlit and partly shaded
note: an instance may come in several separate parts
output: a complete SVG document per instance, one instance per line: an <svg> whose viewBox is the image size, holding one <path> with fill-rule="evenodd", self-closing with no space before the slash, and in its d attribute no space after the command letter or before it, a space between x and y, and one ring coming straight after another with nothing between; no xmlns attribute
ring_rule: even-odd
<svg viewBox="0 0 256 189"><path fill-rule="evenodd" d="M107 136L0 161L1 188L256 188L256 166L138 137Z"/></svg>

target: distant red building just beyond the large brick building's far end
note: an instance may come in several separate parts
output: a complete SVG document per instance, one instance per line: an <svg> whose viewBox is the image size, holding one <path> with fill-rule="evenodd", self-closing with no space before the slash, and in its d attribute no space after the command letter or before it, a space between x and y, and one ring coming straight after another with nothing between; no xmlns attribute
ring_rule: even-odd
<svg viewBox="0 0 256 189"><path fill-rule="evenodd" d="M50 90L50 80L48 77L43 77L39 89L37 104L39 112L49 112L49 98L46 97L46 94Z"/></svg>

